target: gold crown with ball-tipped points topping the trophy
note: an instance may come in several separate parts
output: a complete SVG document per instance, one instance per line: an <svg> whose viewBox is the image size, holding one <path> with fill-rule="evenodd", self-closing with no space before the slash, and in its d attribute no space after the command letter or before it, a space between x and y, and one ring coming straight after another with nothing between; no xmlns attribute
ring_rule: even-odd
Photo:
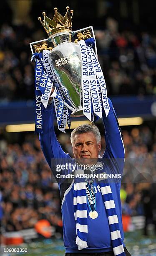
<svg viewBox="0 0 156 256"><path fill-rule="evenodd" d="M60 13L58 13L58 8L54 8L55 14L53 17L53 20L45 16L45 12L43 12L44 20L40 17L38 17L38 20L40 20L43 28L48 33L48 36L51 37L56 33L59 32L70 32L72 30L72 17L73 17L73 10L70 10L69 12L69 6L66 7L67 12L65 13L65 16L63 17ZM71 16L70 16L71 13Z"/></svg>

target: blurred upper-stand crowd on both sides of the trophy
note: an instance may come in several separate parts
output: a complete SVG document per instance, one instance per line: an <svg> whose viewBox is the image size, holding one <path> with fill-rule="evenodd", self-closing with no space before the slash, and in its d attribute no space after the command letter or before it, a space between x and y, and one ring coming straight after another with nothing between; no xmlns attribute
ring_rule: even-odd
<svg viewBox="0 0 156 256"><path fill-rule="evenodd" d="M23 33L24 31L24 33ZM105 30L95 30L98 59L109 95L156 94L156 36L118 32L108 18ZM0 99L34 98L34 67L29 43L47 38L43 28L30 20L25 25L0 26Z"/></svg>

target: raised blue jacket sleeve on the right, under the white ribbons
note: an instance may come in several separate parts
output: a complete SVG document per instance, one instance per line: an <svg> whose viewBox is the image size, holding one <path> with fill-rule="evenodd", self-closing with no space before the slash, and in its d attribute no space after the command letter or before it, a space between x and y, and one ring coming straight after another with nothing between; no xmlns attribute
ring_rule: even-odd
<svg viewBox="0 0 156 256"><path fill-rule="evenodd" d="M112 102L109 99L108 102L110 106L108 116L106 117L105 113L103 112L103 124L105 127L106 141L106 150L103 157L106 159L116 159L120 173L122 173L125 155L123 139Z"/></svg>

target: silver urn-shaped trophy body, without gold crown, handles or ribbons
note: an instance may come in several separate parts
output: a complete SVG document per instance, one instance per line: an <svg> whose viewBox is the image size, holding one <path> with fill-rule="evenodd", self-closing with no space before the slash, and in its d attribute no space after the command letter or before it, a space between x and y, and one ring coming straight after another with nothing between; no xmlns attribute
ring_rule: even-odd
<svg viewBox="0 0 156 256"><path fill-rule="evenodd" d="M51 38L56 46L49 54L49 61L58 78L60 90L64 86L68 91L69 98L72 100L70 100L70 104L75 109L70 116L74 117L83 115L81 106L81 53L80 46L72 43L70 38L70 33L63 32Z"/></svg>

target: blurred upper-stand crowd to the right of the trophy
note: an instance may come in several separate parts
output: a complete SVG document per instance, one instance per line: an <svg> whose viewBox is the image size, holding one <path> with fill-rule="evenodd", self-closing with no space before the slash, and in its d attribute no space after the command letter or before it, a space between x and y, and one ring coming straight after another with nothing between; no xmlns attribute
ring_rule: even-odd
<svg viewBox="0 0 156 256"><path fill-rule="evenodd" d="M118 32L118 23L107 20L107 30L95 31L98 59L110 95L156 94L156 36Z"/></svg>

